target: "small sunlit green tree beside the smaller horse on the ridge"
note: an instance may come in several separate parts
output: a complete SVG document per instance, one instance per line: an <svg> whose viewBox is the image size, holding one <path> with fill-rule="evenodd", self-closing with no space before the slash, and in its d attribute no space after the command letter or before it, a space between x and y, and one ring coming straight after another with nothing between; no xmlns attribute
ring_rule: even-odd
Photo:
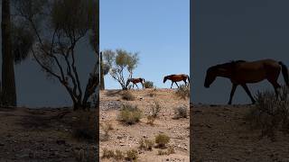
<svg viewBox="0 0 289 162"><path fill-rule="evenodd" d="M105 64L109 67L109 75L112 76L121 85L122 89L127 89L126 81L132 78L135 67L137 67L139 58L138 53L128 52L125 49L106 49L103 51ZM128 74L126 76L126 74Z"/></svg>

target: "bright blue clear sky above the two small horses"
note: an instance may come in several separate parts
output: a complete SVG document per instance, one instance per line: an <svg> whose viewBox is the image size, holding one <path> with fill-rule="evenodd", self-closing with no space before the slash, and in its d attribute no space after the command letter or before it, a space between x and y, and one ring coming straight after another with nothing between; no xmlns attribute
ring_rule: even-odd
<svg viewBox="0 0 289 162"><path fill-rule="evenodd" d="M163 76L190 73L190 0L100 0L99 11L100 49L140 52L135 77L170 87ZM105 82L120 88L109 74Z"/></svg>

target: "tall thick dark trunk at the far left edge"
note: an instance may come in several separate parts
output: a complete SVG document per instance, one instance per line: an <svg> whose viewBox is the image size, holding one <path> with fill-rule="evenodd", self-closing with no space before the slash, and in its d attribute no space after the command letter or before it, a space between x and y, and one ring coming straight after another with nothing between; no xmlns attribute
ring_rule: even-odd
<svg viewBox="0 0 289 162"><path fill-rule="evenodd" d="M2 102L16 106L14 56L11 47L10 1L2 0Z"/></svg>

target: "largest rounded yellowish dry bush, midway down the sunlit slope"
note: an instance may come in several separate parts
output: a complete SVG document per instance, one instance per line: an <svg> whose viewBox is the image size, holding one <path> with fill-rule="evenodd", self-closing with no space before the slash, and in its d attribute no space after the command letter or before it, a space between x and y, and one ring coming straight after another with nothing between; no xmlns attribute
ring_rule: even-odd
<svg viewBox="0 0 289 162"><path fill-rule="evenodd" d="M126 124L132 125L140 121L143 112L135 105L123 104L119 112L118 119Z"/></svg>

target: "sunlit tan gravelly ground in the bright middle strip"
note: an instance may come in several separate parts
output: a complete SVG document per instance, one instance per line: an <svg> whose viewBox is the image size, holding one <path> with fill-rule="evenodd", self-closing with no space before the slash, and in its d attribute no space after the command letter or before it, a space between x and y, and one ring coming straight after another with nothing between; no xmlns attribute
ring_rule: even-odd
<svg viewBox="0 0 289 162"><path fill-rule="evenodd" d="M122 99L120 90L100 91L100 124L109 122L113 130L109 132L109 139L100 141L99 156L103 155L103 149L126 151L135 148L138 151L137 161L190 161L190 119L173 119L174 110L178 106L185 106L189 111L189 99L180 99L175 94L175 89L135 89L130 90L135 95L134 101ZM150 94L154 93L154 96ZM157 101L162 109L154 125L147 124L146 115L150 108ZM118 121L117 114L121 105L130 103L137 105L143 112L144 117L134 125L126 125ZM104 131L99 131L100 139ZM174 148L175 153L170 155L158 155L160 148L153 148L152 151L139 149L140 139L153 139L159 134L168 135L171 140L169 146ZM101 158L101 161L112 161L113 159Z"/></svg>

